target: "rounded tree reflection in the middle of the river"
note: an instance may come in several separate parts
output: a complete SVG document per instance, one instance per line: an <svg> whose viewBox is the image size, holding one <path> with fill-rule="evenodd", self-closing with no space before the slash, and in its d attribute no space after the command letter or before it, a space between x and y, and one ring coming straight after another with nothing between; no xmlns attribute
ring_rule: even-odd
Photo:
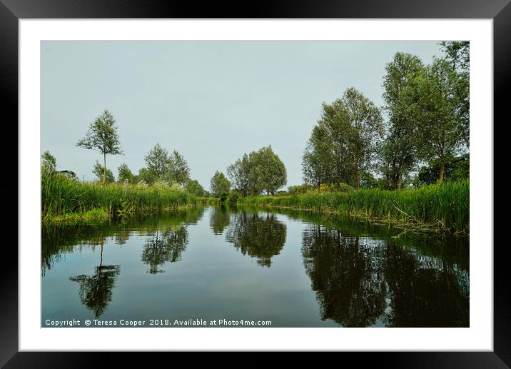
<svg viewBox="0 0 511 369"><path fill-rule="evenodd" d="M259 215L240 211L232 217L226 240L243 255L257 258L258 265L270 267L271 258L284 247L285 224L273 213Z"/></svg>

